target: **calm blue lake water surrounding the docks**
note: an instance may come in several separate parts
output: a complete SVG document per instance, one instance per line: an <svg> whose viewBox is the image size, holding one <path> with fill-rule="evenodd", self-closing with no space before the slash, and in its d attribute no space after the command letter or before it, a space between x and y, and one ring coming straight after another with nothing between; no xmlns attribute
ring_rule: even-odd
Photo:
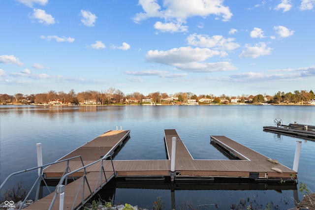
<svg viewBox="0 0 315 210"><path fill-rule="evenodd" d="M42 143L43 163L54 162L116 125L131 130L130 139L115 159L165 159L164 129L176 129L194 159L227 159L210 144L210 135L223 135L292 168L296 141L302 141L299 183L315 191L315 142L264 132L281 118L284 124L315 124L315 106L0 106L0 182L10 173L37 165L36 143ZM34 174L35 177L35 174ZM32 176L18 176L28 186ZM11 184L11 186L10 186ZM297 186L298 188L299 186ZM294 190L207 189L175 190L147 187L108 187L102 197L116 204L151 208L162 197L177 207L190 203L199 209L230 209L241 199L279 209L294 207ZM148 187L150 188L150 187ZM2 196L5 190L1 190ZM107 195L107 193L109 195ZM302 194L299 192L299 198ZM0 199L1 200L1 199ZM214 205L214 204L217 204ZM248 204L248 203L247 203ZM278 205L278 206L277 206Z"/></svg>

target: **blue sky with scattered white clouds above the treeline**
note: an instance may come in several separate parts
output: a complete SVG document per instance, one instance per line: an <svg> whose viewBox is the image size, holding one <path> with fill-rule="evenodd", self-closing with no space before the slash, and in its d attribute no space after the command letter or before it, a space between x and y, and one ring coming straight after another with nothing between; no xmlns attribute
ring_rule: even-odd
<svg viewBox="0 0 315 210"><path fill-rule="evenodd" d="M315 91L315 0L1 0L0 93Z"/></svg>

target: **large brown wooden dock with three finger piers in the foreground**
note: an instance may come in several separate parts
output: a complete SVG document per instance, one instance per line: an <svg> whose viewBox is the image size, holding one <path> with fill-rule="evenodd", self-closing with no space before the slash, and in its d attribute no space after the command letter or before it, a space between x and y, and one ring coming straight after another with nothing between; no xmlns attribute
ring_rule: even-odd
<svg viewBox="0 0 315 210"><path fill-rule="evenodd" d="M84 165L91 164L95 159L100 159L102 156L111 154L119 147L122 142L129 137L129 130L123 131L108 131L91 142L83 145L63 156L61 159L81 155ZM150 179L154 177L169 177L171 164L171 147L172 137L176 137L176 181L185 180L202 180L200 178L209 179L225 179L225 178L242 178L261 182L281 180L293 180L297 178L297 172L285 167L280 163L269 161L270 158L251 150L225 136L211 136L211 141L220 146L223 150L231 156L236 157L237 160L196 160L190 155L186 148L184 141L179 137L175 129L164 130L164 141L168 159L165 160L104 160L103 168L106 177L112 179L126 178L126 179ZM113 172L113 166L115 172ZM69 162L71 171L82 167L81 160L74 160ZM101 162L86 168L86 178L91 185L96 182L96 177L99 175ZM66 168L66 162L51 165L44 170L44 175L47 180L60 179L63 176ZM75 173L76 177L83 176L83 170ZM64 209L71 209L77 193L77 189L81 183L82 178L79 178L65 186L65 202ZM105 184L103 180L101 185ZM76 190L75 190L76 189ZM79 191L79 194L89 196L89 191L85 189ZM48 209L52 197L55 192L38 200L31 206L25 208L27 210L45 210ZM86 199L86 198L84 198ZM81 200L77 199L75 208L80 207ZM53 209L58 209L59 200L57 199Z"/></svg>

